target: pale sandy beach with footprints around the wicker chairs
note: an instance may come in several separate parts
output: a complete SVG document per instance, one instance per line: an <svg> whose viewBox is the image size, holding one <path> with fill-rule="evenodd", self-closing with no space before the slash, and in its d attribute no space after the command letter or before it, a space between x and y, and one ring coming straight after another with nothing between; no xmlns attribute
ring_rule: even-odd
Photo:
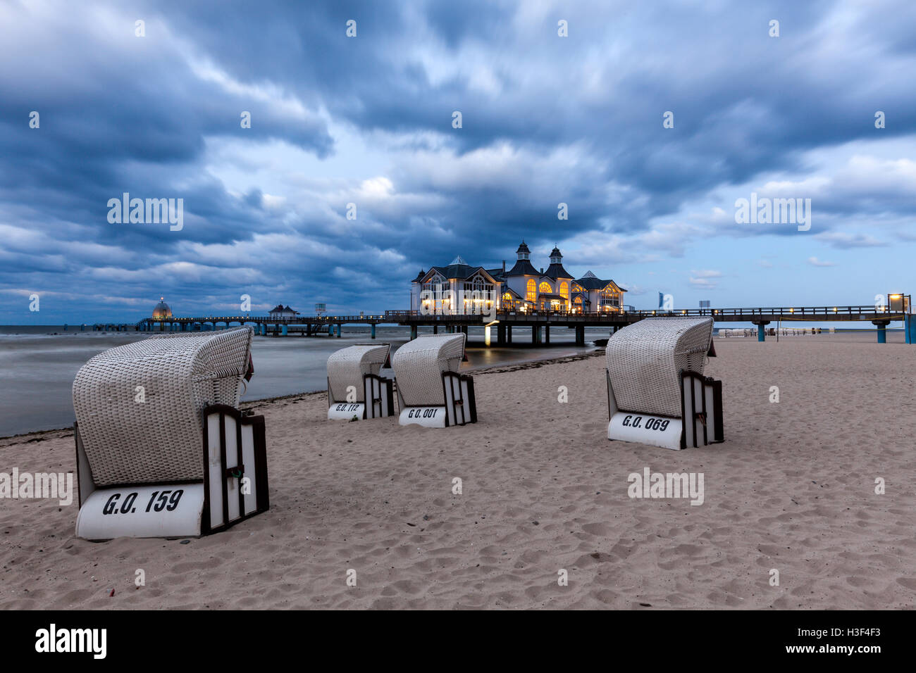
<svg viewBox="0 0 916 673"><path fill-rule="evenodd" d="M92 543L75 503L2 499L0 608L912 609L916 364L874 339L715 339L725 443L683 451L606 439L600 353L475 374L464 428L332 422L323 394L250 404L269 512L186 544ZM0 455L75 472L69 431ZM630 498L647 467L703 472L703 505Z"/></svg>

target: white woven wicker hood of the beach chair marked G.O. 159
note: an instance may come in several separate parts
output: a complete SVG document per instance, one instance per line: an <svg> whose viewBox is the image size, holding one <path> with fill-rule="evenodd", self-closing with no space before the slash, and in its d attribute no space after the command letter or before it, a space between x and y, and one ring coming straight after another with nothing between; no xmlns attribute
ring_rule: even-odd
<svg viewBox="0 0 916 673"><path fill-rule="evenodd" d="M105 351L73 381L97 486L203 479L202 412L237 407L252 330L156 335Z"/></svg>

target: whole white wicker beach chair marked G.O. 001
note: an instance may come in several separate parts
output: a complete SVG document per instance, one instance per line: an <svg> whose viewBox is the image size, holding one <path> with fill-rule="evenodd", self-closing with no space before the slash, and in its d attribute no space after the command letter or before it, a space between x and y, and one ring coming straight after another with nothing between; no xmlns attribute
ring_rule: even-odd
<svg viewBox="0 0 916 673"><path fill-rule="evenodd" d="M477 422L474 378L458 374L467 336L426 334L391 358L401 425L448 428Z"/></svg>

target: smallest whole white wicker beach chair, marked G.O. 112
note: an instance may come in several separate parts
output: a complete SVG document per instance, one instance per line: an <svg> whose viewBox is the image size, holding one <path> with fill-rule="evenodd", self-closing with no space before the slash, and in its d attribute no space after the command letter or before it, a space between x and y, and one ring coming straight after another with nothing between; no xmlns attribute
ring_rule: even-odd
<svg viewBox="0 0 916 673"><path fill-rule="evenodd" d="M391 345L342 348L328 358L328 418L354 420L394 416L391 379L379 375Z"/></svg>

